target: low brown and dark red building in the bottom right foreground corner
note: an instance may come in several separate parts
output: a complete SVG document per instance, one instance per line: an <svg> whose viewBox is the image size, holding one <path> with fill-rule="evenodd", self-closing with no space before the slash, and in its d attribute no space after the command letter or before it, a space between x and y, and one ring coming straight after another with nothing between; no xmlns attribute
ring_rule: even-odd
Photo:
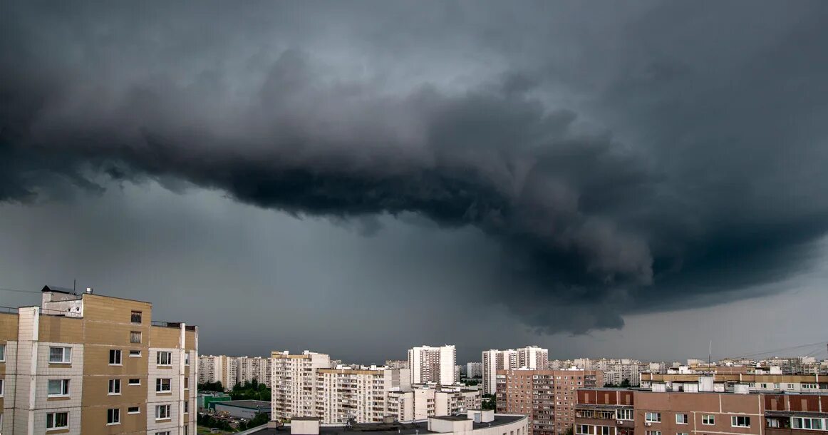
<svg viewBox="0 0 828 435"><path fill-rule="evenodd" d="M712 379L687 391L581 389L577 435L794 435L825 433L826 394L715 392ZM822 431L822 432L820 432Z"/></svg>

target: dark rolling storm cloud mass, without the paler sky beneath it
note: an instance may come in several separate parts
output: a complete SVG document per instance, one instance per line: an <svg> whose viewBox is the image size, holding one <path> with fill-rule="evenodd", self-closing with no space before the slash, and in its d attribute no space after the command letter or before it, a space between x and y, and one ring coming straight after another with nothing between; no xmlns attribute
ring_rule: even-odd
<svg viewBox="0 0 828 435"><path fill-rule="evenodd" d="M828 3L427 7L7 2L0 201L153 178L471 226L498 278L452 290L545 332L808 267Z"/></svg>

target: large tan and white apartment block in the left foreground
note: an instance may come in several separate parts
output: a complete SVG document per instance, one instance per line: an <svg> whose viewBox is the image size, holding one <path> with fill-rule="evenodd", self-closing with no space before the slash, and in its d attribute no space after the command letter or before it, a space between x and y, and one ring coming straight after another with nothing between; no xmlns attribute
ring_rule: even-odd
<svg viewBox="0 0 828 435"><path fill-rule="evenodd" d="M195 434L197 355L150 302L45 286L0 312L0 432Z"/></svg>

